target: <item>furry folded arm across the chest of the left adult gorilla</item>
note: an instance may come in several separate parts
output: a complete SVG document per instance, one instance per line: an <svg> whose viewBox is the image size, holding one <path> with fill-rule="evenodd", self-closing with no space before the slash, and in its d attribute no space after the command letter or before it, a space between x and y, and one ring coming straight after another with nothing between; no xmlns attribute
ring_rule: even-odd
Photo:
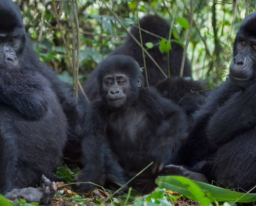
<svg viewBox="0 0 256 206"><path fill-rule="evenodd" d="M38 119L47 111L44 78L0 58L0 103L16 109L23 117Z"/></svg>

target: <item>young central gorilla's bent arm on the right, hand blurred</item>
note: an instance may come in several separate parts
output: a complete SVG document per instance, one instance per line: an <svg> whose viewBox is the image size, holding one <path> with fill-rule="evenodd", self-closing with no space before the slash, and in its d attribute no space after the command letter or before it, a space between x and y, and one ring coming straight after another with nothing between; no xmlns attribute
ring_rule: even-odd
<svg viewBox="0 0 256 206"><path fill-rule="evenodd" d="M171 100L160 96L155 88L145 87L140 95L143 107L148 109L147 113L158 124L148 151L154 160L155 173L162 169L164 161L185 141L188 123L183 110Z"/></svg>

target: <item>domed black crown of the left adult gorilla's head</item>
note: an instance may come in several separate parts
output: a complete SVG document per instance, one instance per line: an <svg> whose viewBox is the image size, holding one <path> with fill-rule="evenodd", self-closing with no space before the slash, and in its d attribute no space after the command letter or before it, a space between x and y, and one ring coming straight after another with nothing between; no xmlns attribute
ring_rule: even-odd
<svg viewBox="0 0 256 206"><path fill-rule="evenodd" d="M0 32L24 29L19 7L12 0L0 0L0 19Z"/></svg>

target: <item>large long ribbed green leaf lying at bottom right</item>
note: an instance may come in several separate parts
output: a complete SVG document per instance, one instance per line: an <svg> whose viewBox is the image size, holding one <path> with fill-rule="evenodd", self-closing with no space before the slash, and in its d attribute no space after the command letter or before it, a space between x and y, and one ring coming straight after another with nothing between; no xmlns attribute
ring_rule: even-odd
<svg viewBox="0 0 256 206"><path fill-rule="evenodd" d="M200 202L201 205L209 205L209 201L249 203L256 200L256 193L231 191L181 176L158 177L156 184L161 188L179 192L190 199Z"/></svg>

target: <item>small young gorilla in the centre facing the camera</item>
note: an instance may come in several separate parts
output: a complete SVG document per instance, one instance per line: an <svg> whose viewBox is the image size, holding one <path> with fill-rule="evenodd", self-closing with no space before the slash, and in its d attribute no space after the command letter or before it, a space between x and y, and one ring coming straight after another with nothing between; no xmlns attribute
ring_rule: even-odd
<svg viewBox="0 0 256 206"><path fill-rule="evenodd" d="M103 176L101 168L104 167L109 175L118 177L116 174L119 174L122 177L125 170L125 175L131 178L154 161L151 168L147 168L132 182L133 188L144 193L150 192L155 187L154 179L166 158L187 137L186 115L178 105L163 98L155 88L142 86L142 72L138 63L130 56L108 57L98 66L97 71L101 99L91 106L88 134L82 146L82 163L87 170L82 169L76 180L93 182L100 179ZM110 145L121 169L118 167L112 171L108 168L108 159L102 160L104 154L111 153L108 147L102 149L105 152L99 152L100 144L95 142L102 141ZM98 159L96 156L91 159L95 151L99 153ZM88 175L91 165L95 167L95 178ZM97 169L98 173L95 172ZM80 185L80 190L88 189L88 185Z"/></svg>

